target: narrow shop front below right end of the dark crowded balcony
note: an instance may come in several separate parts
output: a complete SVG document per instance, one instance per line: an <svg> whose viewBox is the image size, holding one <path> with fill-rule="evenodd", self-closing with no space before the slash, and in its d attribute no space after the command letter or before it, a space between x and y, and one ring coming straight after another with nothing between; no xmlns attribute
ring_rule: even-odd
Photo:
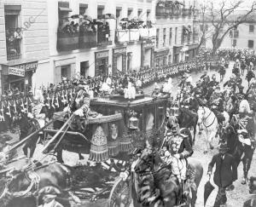
<svg viewBox="0 0 256 207"><path fill-rule="evenodd" d="M95 53L95 76L108 76L108 50Z"/></svg>

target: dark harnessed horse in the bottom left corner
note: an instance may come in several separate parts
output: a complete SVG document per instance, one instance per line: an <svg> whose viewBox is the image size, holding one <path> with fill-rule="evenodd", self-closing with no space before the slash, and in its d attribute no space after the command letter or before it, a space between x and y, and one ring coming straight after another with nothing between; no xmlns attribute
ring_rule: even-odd
<svg viewBox="0 0 256 207"><path fill-rule="evenodd" d="M39 164L33 170L17 172L7 183L5 191L0 195L1 206L38 206L38 190L49 186L57 187L61 191L61 197L57 200L64 206L70 206L69 198L74 198L69 194L73 184L71 170L58 163Z"/></svg>

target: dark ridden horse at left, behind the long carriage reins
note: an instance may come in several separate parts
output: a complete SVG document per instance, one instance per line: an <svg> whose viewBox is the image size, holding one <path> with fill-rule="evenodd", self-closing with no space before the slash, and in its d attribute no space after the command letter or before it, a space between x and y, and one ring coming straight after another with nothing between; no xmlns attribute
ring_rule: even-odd
<svg viewBox="0 0 256 207"><path fill-rule="evenodd" d="M26 136L31 135L34 131L40 129L40 125L36 120L27 118L26 113L20 113L18 118L18 125L20 127L20 141L22 141ZM35 149L37 147L39 135L33 135L28 141L25 142L23 147L23 152L28 158L32 158ZM28 154L28 149L30 153Z"/></svg>

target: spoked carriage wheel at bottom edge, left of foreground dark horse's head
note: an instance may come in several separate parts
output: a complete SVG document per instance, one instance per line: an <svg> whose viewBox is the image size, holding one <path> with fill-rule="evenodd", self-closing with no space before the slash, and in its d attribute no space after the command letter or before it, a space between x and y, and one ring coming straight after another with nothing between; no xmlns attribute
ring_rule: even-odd
<svg viewBox="0 0 256 207"><path fill-rule="evenodd" d="M109 207L129 207L131 204L131 189L129 181L119 178L113 185L109 195Z"/></svg>

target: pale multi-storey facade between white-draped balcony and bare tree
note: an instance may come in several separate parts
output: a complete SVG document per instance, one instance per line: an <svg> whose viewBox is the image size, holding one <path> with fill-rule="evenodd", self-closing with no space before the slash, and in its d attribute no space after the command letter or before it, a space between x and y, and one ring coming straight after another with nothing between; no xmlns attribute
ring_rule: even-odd
<svg viewBox="0 0 256 207"><path fill-rule="evenodd" d="M196 1L156 3L155 66L165 66L195 57L198 46Z"/></svg>

